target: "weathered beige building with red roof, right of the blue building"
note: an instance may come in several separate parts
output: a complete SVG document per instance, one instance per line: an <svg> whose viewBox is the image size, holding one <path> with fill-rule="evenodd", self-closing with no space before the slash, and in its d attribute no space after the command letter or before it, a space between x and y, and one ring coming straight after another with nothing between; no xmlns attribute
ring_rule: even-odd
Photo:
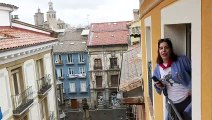
<svg viewBox="0 0 212 120"><path fill-rule="evenodd" d="M118 106L117 91L123 52L128 47L128 21L93 23L89 51L91 106Z"/></svg>

